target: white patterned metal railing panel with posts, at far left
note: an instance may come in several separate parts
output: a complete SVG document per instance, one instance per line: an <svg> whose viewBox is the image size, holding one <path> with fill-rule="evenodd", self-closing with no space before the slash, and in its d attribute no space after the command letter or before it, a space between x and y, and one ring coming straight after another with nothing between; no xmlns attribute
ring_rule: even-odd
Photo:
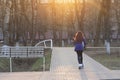
<svg viewBox="0 0 120 80"><path fill-rule="evenodd" d="M45 71L45 55L44 55L43 46L0 47L0 57L5 57L5 58L10 59L10 72L12 72L12 58L13 57L19 57L19 58L41 57L43 58L43 71Z"/></svg>

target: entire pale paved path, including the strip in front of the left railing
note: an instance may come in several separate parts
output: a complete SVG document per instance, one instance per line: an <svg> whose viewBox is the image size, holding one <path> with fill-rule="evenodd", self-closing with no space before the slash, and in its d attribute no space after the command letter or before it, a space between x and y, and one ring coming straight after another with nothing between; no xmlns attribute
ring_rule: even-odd
<svg viewBox="0 0 120 80"><path fill-rule="evenodd" d="M49 72L0 73L0 80L100 80L120 79L120 70L109 70L84 54L84 69L78 69L73 48L54 48Z"/></svg>

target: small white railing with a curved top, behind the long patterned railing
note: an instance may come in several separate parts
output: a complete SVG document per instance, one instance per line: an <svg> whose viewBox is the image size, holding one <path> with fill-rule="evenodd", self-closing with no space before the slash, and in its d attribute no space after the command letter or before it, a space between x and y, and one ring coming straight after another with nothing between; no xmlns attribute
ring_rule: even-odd
<svg viewBox="0 0 120 80"><path fill-rule="evenodd" d="M35 47L37 47L37 46L44 46L44 48L53 49L53 41L52 41L52 39L43 40L35 45Z"/></svg>

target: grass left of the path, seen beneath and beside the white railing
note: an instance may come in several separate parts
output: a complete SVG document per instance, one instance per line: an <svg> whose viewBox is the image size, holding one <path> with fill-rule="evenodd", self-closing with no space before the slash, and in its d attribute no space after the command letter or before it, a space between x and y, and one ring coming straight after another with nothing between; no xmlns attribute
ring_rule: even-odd
<svg viewBox="0 0 120 80"><path fill-rule="evenodd" d="M45 50L45 70L50 69L51 63L51 49ZM42 71L43 70L43 59L42 58L13 58L12 59L13 72L22 71ZM9 72L9 59L0 58L0 72Z"/></svg>

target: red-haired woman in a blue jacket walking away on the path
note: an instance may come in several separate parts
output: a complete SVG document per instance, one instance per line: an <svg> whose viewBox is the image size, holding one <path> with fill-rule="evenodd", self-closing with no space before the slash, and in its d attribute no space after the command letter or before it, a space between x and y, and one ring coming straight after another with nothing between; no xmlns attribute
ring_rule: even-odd
<svg viewBox="0 0 120 80"><path fill-rule="evenodd" d="M75 51L77 53L79 69L83 68L83 50L86 46L85 37L81 31L78 31L74 36Z"/></svg>

